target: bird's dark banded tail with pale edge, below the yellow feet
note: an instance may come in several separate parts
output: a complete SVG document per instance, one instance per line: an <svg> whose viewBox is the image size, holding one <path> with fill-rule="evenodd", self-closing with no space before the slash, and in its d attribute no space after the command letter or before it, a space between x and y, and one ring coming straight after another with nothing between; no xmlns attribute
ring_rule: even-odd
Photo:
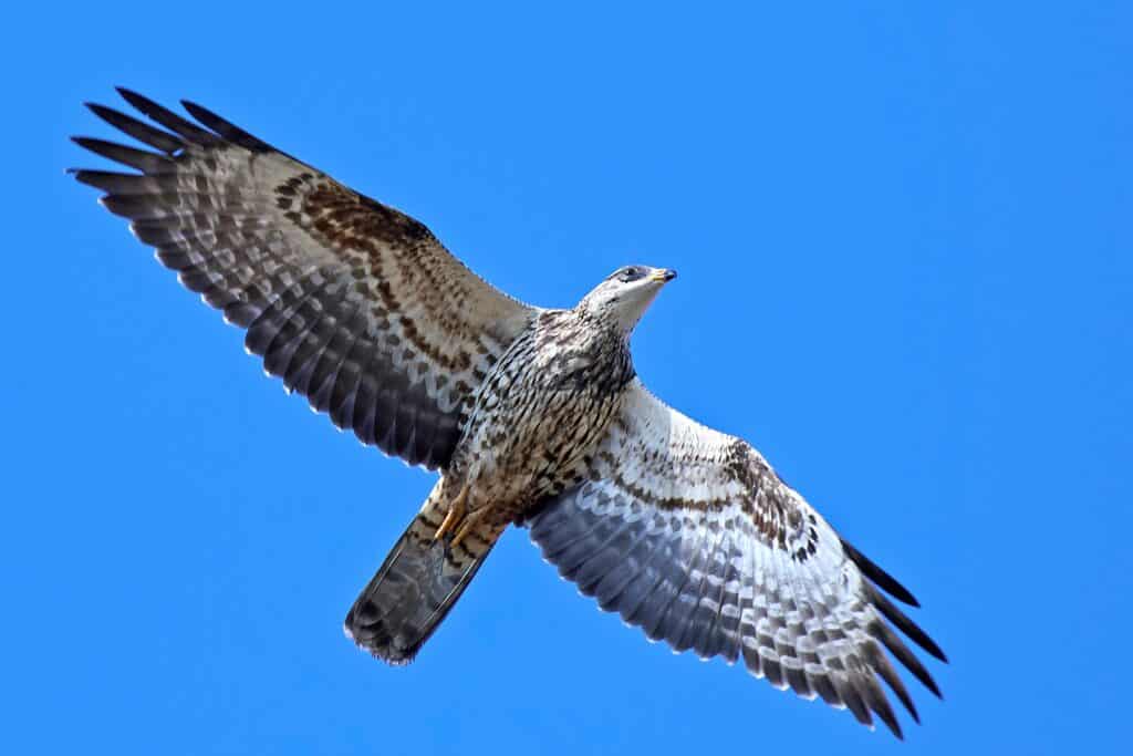
<svg viewBox="0 0 1133 756"><path fill-rule="evenodd" d="M343 626L359 646L390 664L408 664L436 630L504 527L482 523L459 544L433 540L448 512L440 483L361 592Z"/></svg>

